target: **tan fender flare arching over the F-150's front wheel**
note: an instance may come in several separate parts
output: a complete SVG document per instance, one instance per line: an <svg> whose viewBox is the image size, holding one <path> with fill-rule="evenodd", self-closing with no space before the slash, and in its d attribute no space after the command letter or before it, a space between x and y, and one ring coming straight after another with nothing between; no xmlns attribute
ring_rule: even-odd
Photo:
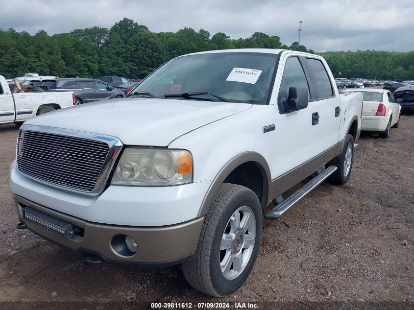
<svg viewBox="0 0 414 310"><path fill-rule="evenodd" d="M261 201L262 209L266 208L270 203L269 193L271 193L271 174L268 162L266 159L260 155L259 153L248 151L243 152L231 160L229 160L219 171L219 173L214 178L213 182L211 183L209 189L207 190L206 194L204 195L204 199L201 203L200 210L198 211L197 216L206 215L208 210L210 209L210 205L213 202L214 196L216 195L217 191L221 184L224 182L226 177L237 167L240 165L247 163L247 162L254 162L257 167L260 169L262 176L263 176L263 197Z"/></svg>

